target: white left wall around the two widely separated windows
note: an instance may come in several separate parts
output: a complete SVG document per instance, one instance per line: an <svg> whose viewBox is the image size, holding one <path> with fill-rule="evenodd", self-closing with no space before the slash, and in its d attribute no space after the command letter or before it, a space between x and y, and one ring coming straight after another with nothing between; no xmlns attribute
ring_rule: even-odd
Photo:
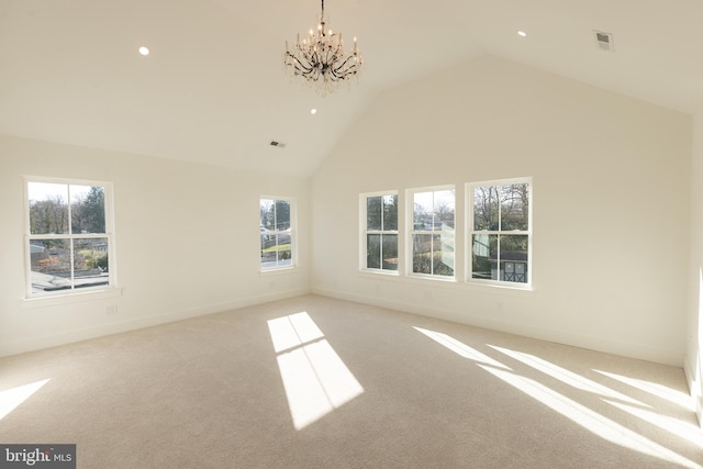
<svg viewBox="0 0 703 469"><path fill-rule="evenodd" d="M24 175L113 182L121 295L23 301ZM297 198L299 269L259 273L259 196ZM0 356L306 293L309 205L304 178L0 137Z"/></svg>

